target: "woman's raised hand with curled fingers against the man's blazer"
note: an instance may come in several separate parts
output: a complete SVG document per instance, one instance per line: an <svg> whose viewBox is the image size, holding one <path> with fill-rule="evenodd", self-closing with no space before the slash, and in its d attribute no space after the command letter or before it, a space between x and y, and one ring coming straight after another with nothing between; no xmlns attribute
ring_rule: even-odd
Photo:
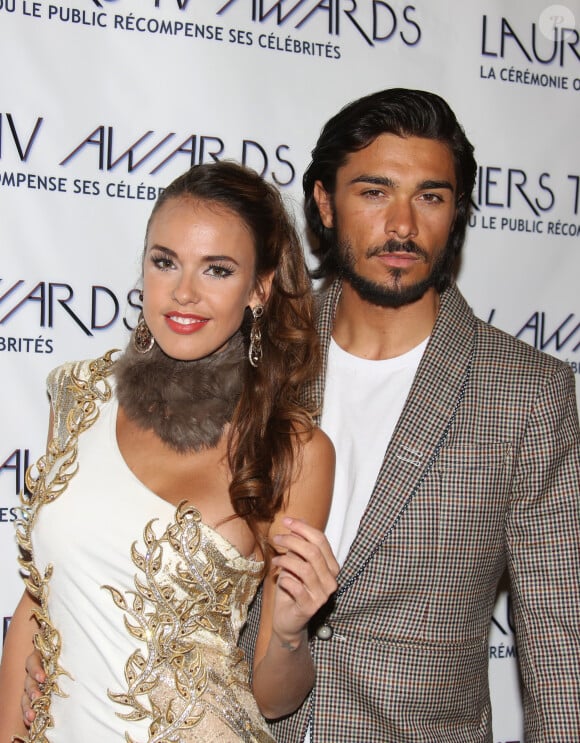
<svg viewBox="0 0 580 743"><path fill-rule="evenodd" d="M273 542L279 553L272 559L276 589L272 632L292 649L300 644L308 622L336 591L339 566L324 534L302 519L284 517L289 533Z"/></svg>

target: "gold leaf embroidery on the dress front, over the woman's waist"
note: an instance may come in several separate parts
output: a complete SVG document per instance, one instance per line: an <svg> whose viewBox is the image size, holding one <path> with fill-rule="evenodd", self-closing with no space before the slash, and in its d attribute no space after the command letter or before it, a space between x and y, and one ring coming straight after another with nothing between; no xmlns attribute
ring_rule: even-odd
<svg viewBox="0 0 580 743"><path fill-rule="evenodd" d="M260 564L249 571L241 558L243 565L233 567L186 503L159 537L154 523L143 530L144 553L136 544L131 549L140 574L124 604L115 600L116 589L104 586L125 612L128 632L144 645L125 665L127 691L110 691L110 698L150 720L149 741L185 740L184 731L205 723L208 714L230 730L231 740L270 741L257 708L252 720L236 697L242 689L251 699L232 606L247 605ZM137 719L131 714L119 716Z"/></svg>

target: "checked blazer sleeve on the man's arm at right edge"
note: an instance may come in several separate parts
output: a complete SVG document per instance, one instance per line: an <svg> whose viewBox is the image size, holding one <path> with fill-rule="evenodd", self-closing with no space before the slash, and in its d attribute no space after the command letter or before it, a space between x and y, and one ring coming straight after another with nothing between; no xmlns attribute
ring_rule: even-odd
<svg viewBox="0 0 580 743"><path fill-rule="evenodd" d="M575 382L562 364L530 411L507 516L526 743L580 740L579 493Z"/></svg>

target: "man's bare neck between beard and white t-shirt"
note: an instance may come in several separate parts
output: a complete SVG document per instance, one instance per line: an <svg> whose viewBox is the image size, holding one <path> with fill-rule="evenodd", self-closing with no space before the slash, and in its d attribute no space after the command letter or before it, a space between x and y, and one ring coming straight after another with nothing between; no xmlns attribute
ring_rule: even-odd
<svg viewBox="0 0 580 743"><path fill-rule="evenodd" d="M344 282L332 337L354 356L391 359L415 348L431 334L438 311L439 294L434 289L402 307L380 307L361 299Z"/></svg>

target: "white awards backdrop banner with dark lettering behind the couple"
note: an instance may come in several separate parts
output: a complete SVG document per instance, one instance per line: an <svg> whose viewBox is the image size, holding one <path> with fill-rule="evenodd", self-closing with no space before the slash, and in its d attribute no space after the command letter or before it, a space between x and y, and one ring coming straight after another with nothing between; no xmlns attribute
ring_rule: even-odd
<svg viewBox="0 0 580 743"><path fill-rule="evenodd" d="M579 27L580 0L0 0L4 628L46 374L125 344L149 211L194 163L248 164L302 226L301 176L332 114L386 87L439 93L479 164L460 287L580 380ZM522 738L516 654L503 590L497 743Z"/></svg>

